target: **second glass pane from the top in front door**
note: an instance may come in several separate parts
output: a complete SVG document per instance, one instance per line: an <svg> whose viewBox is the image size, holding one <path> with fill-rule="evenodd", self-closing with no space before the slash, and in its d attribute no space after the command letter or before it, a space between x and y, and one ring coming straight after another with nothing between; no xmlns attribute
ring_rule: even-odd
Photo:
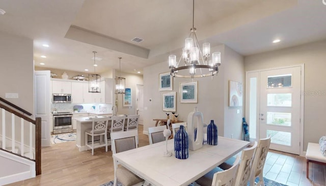
<svg viewBox="0 0 326 186"><path fill-rule="evenodd" d="M267 94L267 106L291 107L292 94Z"/></svg>

